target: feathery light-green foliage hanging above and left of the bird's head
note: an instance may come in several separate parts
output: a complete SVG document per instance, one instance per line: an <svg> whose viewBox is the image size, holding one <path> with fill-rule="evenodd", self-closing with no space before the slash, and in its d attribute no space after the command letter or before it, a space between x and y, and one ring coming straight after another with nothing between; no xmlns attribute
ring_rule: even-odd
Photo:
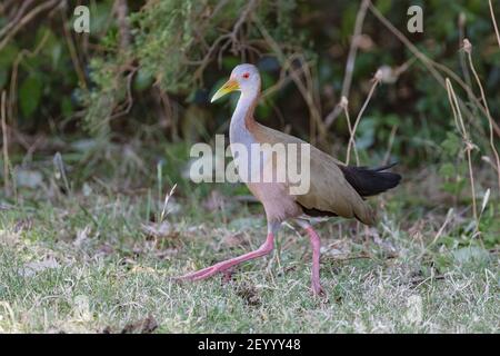
<svg viewBox="0 0 500 356"><path fill-rule="evenodd" d="M117 31L109 31L102 40L107 48L104 58L94 58L90 63L93 88L83 93L83 102L88 108L86 127L91 132L107 132L109 117L113 109L123 103L127 87L123 68L137 63L133 90L146 91L153 83L161 91L194 97L200 83L204 80L204 67L210 65L219 47L233 46L239 33L233 31L242 17L247 1L230 1L219 6L218 1L147 1L146 6L130 13L129 23L132 36L131 47L118 48ZM269 23L270 32L277 40L298 43L291 26L294 1L277 1L261 3L253 14L258 21ZM248 20L249 21L249 20ZM250 22L250 21L249 21ZM241 22L243 24L243 22ZM241 26L242 26L241 24ZM249 28L244 41L258 39L260 33ZM224 56L224 68L230 70L240 62L239 58ZM231 63L228 66L228 63ZM264 85L270 78L263 76ZM270 85L270 83L269 83ZM259 113L264 117L271 112L271 98L260 106ZM96 129L97 128L97 129Z"/></svg>

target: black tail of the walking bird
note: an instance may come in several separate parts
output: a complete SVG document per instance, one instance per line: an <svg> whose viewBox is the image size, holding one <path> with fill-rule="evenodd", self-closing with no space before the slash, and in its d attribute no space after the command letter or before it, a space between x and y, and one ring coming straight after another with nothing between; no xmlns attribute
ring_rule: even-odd
<svg viewBox="0 0 500 356"><path fill-rule="evenodd" d="M399 185L401 176L384 171L397 164L370 169L367 167L339 166L347 181L361 197L378 195Z"/></svg>

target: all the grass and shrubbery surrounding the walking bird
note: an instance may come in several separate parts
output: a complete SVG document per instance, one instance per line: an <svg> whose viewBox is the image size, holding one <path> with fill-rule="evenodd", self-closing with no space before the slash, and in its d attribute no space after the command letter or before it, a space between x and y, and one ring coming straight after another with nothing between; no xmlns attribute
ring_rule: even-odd
<svg viewBox="0 0 500 356"><path fill-rule="evenodd" d="M73 31L78 4L90 33ZM423 33L407 31L413 4ZM0 330L498 332L492 6L2 1ZM227 134L237 98L209 98L240 62L261 71L262 123L342 160L356 139L351 162L404 176L376 199L378 229L322 227L329 304L310 301L310 251L288 226L229 286L167 278L262 239L244 187L186 175L190 145Z"/></svg>

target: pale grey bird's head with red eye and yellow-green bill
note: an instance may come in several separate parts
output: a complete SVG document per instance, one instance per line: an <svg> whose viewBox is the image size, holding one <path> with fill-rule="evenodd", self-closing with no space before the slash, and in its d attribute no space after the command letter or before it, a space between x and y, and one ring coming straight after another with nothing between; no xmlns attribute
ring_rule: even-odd
<svg viewBox="0 0 500 356"><path fill-rule="evenodd" d="M229 80L213 95L211 102L231 91L240 90L243 95L257 95L260 90L259 70L253 65L239 65L234 67Z"/></svg>

